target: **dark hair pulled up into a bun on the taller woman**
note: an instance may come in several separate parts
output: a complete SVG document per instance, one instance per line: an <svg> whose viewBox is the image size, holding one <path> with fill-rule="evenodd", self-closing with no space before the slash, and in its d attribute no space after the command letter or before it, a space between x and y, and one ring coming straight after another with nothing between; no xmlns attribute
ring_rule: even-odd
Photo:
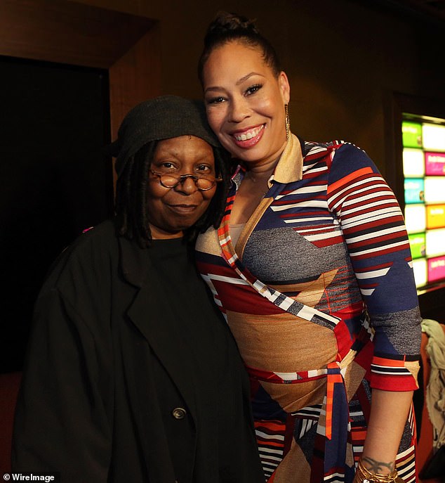
<svg viewBox="0 0 445 483"><path fill-rule="evenodd" d="M268 65L275 77L281 72L281 64L277 52L255 27L254 20L235 13L218 12L215 20L208 26L204 37L204 50L201 53L198 63L198 77L201 85L204 85L203 70L208 57L214 49L223 46L231 41L238 41L248 47L260 49L263 53L263 60Z"/></svg>

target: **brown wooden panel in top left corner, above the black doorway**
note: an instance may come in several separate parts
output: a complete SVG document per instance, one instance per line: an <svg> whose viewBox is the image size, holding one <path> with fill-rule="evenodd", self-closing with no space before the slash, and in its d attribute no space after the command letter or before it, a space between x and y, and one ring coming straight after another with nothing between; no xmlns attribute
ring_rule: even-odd
<svg viewBox="0 0 445 483"><path fill-rule="evenodd" d="M153 23L60 0L0 0L0 55L108 68Z"/></svg>

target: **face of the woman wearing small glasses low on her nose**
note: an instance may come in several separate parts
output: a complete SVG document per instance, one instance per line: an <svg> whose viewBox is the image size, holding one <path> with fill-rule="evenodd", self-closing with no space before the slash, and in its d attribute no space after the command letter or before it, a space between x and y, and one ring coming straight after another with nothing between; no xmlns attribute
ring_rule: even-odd
<svg viewBox="0 0 445 483"><path fill-rule="evenodd" d="M180 136L157 143L150 169L163 174L193 174L214 178L213 149L195 136ZM147 212L152 238L179 238L208 208L216 187L199 191L193 179L185 178L174 188L165 188L159 176L148 174Z"/></svg>

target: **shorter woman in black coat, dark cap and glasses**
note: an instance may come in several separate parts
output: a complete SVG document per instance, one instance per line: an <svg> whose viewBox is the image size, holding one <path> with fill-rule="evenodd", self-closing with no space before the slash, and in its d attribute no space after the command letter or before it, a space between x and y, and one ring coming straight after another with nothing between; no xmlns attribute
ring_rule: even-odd
<svg viewBox="0 0 445 483"><path fill-rule="evenodd" d="M225 202L223 150L176 96L133 108L113 149L117 216L60 255L36 302L13 471L260 482L242 363L190 251Z"/></svg>

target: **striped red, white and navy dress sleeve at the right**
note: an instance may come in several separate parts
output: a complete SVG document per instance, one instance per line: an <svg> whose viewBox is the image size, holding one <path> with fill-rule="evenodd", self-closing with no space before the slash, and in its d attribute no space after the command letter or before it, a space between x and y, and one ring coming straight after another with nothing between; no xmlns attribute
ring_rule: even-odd
<svg viewBox="0 0 445 483"><path fill-rule="evenodd" d="M331 155L327 195L374 332L371 387L416 389L421 317L409 240L394 193L364 151L344 144Z"/></svg>

